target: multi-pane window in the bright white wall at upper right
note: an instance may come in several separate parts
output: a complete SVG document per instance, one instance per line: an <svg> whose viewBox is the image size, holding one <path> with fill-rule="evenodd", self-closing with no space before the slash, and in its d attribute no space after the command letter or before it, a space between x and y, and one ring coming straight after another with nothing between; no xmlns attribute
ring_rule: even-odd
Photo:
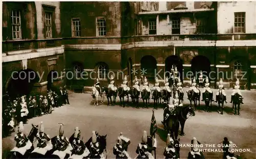
<svg viewBox="0 0 256 159"><path fill-rule="evenodd" d="M234 13L234 33L245 33L245 12Z"/></svg>

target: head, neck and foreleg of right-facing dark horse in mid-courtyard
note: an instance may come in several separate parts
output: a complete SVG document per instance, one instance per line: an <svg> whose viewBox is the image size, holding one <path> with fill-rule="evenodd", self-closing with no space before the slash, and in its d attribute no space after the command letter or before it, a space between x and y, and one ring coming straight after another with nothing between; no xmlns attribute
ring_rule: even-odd
<svg viewBox="0 0 256 159"><path fill-rule="evenodd" d="M191 117L191 116L195 116L195 111L194 111L194 108L189 105L189 106L179 106L176 108L176 115L178 117L178 120L179 120L179 123L180 123L180 126L181 126L181 133L180 135L181 136L184 136L185 135L185 132L184 132L184 126L185 126L185 122L186 120Z"/></svg>

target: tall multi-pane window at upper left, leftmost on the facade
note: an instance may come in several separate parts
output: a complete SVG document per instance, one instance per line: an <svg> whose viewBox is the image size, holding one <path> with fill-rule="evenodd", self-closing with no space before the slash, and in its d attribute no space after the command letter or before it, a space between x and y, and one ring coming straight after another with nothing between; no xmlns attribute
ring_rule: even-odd
<svg viewBox="0 0 256 159"><path fill-rule="evenodd" d="M22 28L20 26L20 11L12 10L12 38L22 38Z"/></svg>

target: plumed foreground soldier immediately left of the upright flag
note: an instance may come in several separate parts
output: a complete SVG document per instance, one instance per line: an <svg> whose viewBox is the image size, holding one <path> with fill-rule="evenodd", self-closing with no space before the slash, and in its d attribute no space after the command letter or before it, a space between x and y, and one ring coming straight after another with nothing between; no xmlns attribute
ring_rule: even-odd
<svg viewBox="0 0 256 159"><path fill-rule="evenodd" d="M149 147L146 144L147 143L147 133L146 131L143 132L142 136L142 142L138 144L136 153L138 154L136 158L148 158L148 159L153 159L153 155L148 152ZM156 139L153 139L153 147L156 147Z"/></svg>

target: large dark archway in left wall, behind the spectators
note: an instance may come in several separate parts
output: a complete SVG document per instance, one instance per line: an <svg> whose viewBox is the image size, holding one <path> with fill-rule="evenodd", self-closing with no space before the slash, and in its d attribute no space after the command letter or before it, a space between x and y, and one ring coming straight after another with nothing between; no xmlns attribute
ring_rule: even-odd
<svg viewBox="0 0 256 159"><path fill-rule="evenodd" d="M13 72L8 80L6 91L12 99L17 96L29 95L36 82L40 82L39 77L37 73L31 69Z"/></svg>

